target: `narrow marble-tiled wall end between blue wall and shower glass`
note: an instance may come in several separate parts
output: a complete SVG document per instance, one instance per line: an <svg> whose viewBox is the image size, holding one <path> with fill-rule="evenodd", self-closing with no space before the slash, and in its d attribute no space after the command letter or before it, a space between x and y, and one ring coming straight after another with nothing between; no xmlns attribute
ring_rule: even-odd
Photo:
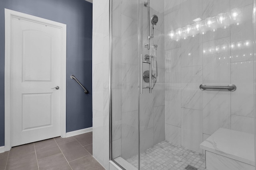
<svg viewBox="0 0 256 170"><path fill-rule="evenodd" d="M93 3L92 127L93 156L109 168L109 1ZM118 39L117 39L118 40ZM116 135L118 132L115 132Z"/></svg>

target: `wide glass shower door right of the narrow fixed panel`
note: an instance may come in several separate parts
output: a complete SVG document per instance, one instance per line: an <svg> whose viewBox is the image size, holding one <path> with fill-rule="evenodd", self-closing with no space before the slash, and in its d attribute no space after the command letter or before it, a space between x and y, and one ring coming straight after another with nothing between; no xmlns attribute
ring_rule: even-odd
<svg viewBox="0 0 256 170"><path fill-rule="evenodd" d="M253 1L150 0L149 18L144 1L139 54L154 58L152 86L157 81L151 94L144 88L139 97L140 169L203 169L203 147L214 148L213 137L219 152L254 160ZM201 84L237 89L200 90ZM149 84L143 80L143 86Z"/></svg>

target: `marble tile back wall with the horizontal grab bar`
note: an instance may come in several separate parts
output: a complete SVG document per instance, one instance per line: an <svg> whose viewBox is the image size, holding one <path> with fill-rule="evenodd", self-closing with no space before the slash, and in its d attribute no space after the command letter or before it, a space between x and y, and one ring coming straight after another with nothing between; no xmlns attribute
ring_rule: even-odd
<svg viewBox="0 0 256 170"><path fill-rule="evenodd" d="M252 0L164 1L166 140L202 152L200 143L220 127L253 133L252 4ZM207 20L227 12L238 16L226 20L226 27L178 41L170 36L196 18ZM202 83L236 84L237 90L201 91Z"/></svg>

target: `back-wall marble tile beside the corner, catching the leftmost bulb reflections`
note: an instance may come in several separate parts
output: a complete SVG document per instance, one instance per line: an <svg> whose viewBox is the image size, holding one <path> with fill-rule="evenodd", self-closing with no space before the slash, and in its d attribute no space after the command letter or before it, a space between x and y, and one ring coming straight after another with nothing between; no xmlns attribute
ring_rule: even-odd
<svg viewBox="0 0 256 170"><path fill-rule="evenodd" d="M172 11L164 16L165 50L180 47L180 41L171 39L170 33L181 27L180 9Z"/></svg>

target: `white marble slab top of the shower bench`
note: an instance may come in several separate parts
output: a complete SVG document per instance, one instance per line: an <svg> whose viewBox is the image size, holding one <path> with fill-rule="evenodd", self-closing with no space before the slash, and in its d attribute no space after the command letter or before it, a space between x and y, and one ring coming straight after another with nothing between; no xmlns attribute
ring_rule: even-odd
<svg viewBox="0 0 256 170"><path fill-rule="evenodd" d="M255 166L254 135L220 128L200 148Z"/></svg>

